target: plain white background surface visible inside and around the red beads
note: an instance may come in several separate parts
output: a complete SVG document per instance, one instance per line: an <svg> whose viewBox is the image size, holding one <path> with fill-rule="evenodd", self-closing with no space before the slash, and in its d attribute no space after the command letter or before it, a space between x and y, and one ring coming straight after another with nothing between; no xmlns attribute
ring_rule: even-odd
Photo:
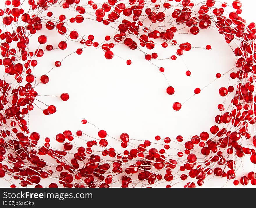
<svg viewBox="0 0 256 208"><path fill-rule="evenodd" d="M226 2L232 5L232 1ZM247 23L255 21L256 3L248 0L241 2L241 17L246 19ZM220 3L216 4L220 6ZM104 41L105 35L112 37L115 34L115 30L111 28L106 33L105 26L95 21L86 21L81 25L83 27L78 29L79 34L93 34L95 41L99 43ZM46 34L47 44L54 47L58 46L58 41L64 40L63 36L46 29L34 35L34 40L41 34ZM39 83L36 86L39 95L58 96L66 92L69 93L70 99L63 102L59 97L38 97L47 105L55 105L57 112L45 116L40 108L47 107L36 102L40 108L35 106L29 114L30 131L40 133L42 144L44 137L53 140L57 133L62 133L66 129L74 134L79 129L96 137L98 130L94 126L81 124L81 120L85 118L99 129L106 130L114 138L119 138L121 133L126 132L130 138L154 141L156 135L161 138L176 138L177 135L189 138L191 135L199 135L202 131L209 132L209 128L215 125L214 117L219 114L217 105L224 101L223 97L219 96L218 89L221 86L228 86L229 73L215 82L213 80L216 73L223 74L233 68L236 59L231 48L225 44L224 38L212 29L201 30L196 36L176 35L174 39L178 42L190 42L193 47L200 47L185 52L182 57L177 57L176 61L153 61L157 66L165 68L164 74L169 84L175 88L175 95L166 93L169 84L165 77L157 67L146 61L139 51L115 46L112 51L117 56L106 60L101 49L90 47L83 50L82 55L69 56L62 61L61 67L51 70L48 74L48 84ZM212 50L202 49L208 44L212 46ZM35 49L32 45L30 47ZM55 61L63 59L65 55L79 47L79 44L68 44L67 50L61 53L58 50L46 52L44 58L38 59L35 70L37 82L41 75L53 67ZM157 52L160 59L176 55L177 48L168 47L160 50L161 48L156 46L156 50L149 52ZM132 61L130 66L126 65L127 59ZM191 71L190 77L185 75L186 70ZM207 87L204 88L205 86ZM204 89L199 95L191 97L197 87ZM187 99L189 100L185 102ZM174 102L185 103L180 111L175 112L172 109ZM123 151L119 143L112 143L112 146ZM166 152L177 153L176 150L172 151L169 149ZM244 172L246 173L246 170ZM223 185L225 178L207 183L207 186L211 187ZM4 182L1 186L9 185ZM232 183L228 186L232 187Z"/></svg>

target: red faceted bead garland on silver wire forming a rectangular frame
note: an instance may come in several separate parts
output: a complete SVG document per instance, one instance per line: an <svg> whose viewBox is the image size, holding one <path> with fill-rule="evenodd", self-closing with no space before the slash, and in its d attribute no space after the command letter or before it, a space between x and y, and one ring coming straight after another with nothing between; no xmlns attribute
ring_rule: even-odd
<svg viewBox="0 0 256 208"><path fill-rule="evenodd" d="M26 7L28 4L28 7ZM256 54L255 23L247 24L239 15L241 2L232 3L232 12L225 15L226 3L205 0L194 4L191 0L109 0L106 3L94 3L83 0L12 0L5 1L5 8L0 10L1 26L1 70L5 70L0 80L0 178L18 180L21 187L165 187L202 186L209 178L226 178L234 185L256 185L254 170L243 176L236 174L236 163L249 155L251 163L256 164ZM51 12L53 7L62 8L58 18ZM25 10L26 9L26 10ZM72 10L74 17L66 19L65 11ZM89 12L88 12L89 11ZM116 29L116 34L106 35L105 42L99 44L93 35L81 36L69 26L86 21L86 15L100 24ZM148 24L149 23L149 24ZM154 27L154 25L157 25ZM38 49L29 51L31 37L42 28L52 30L63 36L58 40L58 48L47 44L47 36L38 37ZM154 29L152 29L154 28ZM162 50L177 46L175 61L193 47L190 43L177 43L175 36L182 28L188 35L197 35L201 30L215 28L233 48L234 41L239 42L233 48L237 57L235 67L229 71L234 86L221 87L218 93L222 97L234 94L227 109L224 104L217 107L216 125L211 126L188 140L178 135L177 138L156 136L158 145L149 140L141 144L132 143L127 133L115 139L125 150L118 152L113 148L113 140L105 130L98 131L98 138L91 138L78 130L73 134L69 130L58 133L55 139L62 149L51 146L51 139L45 138L44 145L39 133L28 129L28 113L36 106L38 99L36 79L33 75L38 62L42 62L44 53L50 50L65 50L71 41L77 41L81 47L74 53L81 55L88 47L104 51L106 59L112 59L115 44L122 44L131 50L140 50L145 60L158 59L158 54L147 54L143 48L154 51L161 41ZM54 34L54 32L52 32ZM207 45L206 50L211 50ZM127 65L132 64L128 59ZM53 69L61 67L61 61L54 60ZM165 69L159 67L159 73ZM49 82L49 73L41 75L39 84ZM190 76L191 72L186 71ZM6 82L11 76L15 82ZM216 74L216 79L221 77ZM202 89L195 88L199 94ZM166 93L175 96L175 88L168 86ZM40 92L42 94L42 92ZM69 100L68 93L62 93L60 99ZM180 102L172 104L174 111L182 108ZM42 109L50 115L56 112L54 105ZM83 119L82 124L89 125ZM83 146L76 147L74 140L83 138ZM244 144L242 140L246 140ZM111 141L111 142L110 142ZM162 141L162 142L161 142ZM172 142L180 144L180 149L172 148ZM160 147L159 147L160 145ZM171 149L172 154L167 150ZM177 155L177 156L174 156ZM53 162L47 162L51 158ZM52 183L45 184L50 178ZM9 180L9 179L6 179ZM57 181L57 182L56 182ZM10 187L16 187L11 184Z"/></svg>

